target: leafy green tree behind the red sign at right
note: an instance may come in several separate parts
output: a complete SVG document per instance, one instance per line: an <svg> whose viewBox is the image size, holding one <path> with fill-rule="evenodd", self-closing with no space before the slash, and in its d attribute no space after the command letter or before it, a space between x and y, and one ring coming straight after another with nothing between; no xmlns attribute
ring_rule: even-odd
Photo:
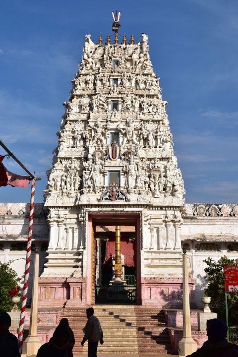
<svg viewBox="0 0 238 357"><path fill-rule="evenodd" d="M236 265L234 259L223 256L218 261L208 258L203 260L207 267L204 269L208 280L206 295L211 297L213 311L217 312L218 317L226 321L225 308L225 277L224 266ZM229 325L238 326L238 293L228 293Z"/></svg>

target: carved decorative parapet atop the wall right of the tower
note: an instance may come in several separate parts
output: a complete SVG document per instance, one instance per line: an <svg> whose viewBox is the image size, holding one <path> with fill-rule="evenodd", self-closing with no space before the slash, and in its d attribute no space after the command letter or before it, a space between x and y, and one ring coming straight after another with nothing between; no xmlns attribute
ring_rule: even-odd
<svg viewBox="0 0 238 357"><path fill-rule="evenodd" d="M238 204L186 203L183 218L189 217L238 217Z"/></svg>

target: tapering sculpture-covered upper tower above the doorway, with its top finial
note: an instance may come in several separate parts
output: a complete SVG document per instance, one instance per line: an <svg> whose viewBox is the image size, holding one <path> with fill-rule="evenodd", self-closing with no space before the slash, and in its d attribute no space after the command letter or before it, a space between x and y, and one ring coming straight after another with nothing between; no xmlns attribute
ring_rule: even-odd
<svg viewBox="0 0 238 357"><path fill-rule="evenodd" d="M119 44L85 36L72 80L45 205L182 206L184 185L174 156L167 102L149 56L148 36Z"/></svg>

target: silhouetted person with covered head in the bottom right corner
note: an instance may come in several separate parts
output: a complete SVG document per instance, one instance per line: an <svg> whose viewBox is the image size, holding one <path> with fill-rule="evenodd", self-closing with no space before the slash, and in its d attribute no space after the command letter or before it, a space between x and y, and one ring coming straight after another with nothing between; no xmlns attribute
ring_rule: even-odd
<svg viewBox="0 0 238 357"><path fill-rule="evenodd" d="M226 339L227 329L227 325L220 319L207 320L208 341L187 357L238 357L238 346Z"/></svg>

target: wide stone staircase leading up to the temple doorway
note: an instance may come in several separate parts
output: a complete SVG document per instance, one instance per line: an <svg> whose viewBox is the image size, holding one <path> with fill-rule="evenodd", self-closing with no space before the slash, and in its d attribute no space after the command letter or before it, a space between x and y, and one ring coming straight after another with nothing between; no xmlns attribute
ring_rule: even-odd
<svg viewBox="0 0 238 357"><path fill-rule="evenodd" d="M171 344L163 311L131 305L95 305L94 315L101 322L104 344L99 354L170 354ZM76 340L74 356L87 354L87 342L80 345L87 322L85 308L64 308Z"/></svg>

